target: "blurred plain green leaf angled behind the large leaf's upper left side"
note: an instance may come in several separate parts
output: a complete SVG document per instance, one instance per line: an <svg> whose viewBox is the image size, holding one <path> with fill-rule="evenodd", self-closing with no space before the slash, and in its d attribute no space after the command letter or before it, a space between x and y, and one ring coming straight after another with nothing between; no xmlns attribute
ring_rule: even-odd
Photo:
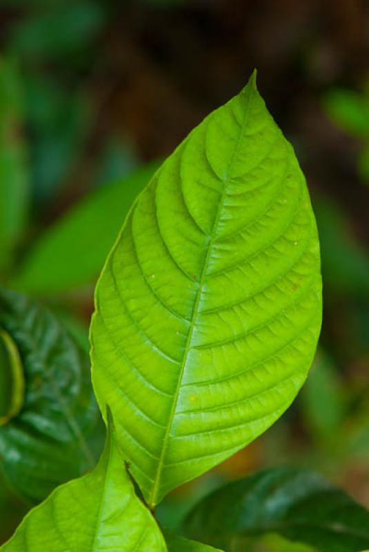
<svg viewBox="0 0 369 552"><path fill-rule="evenodd" d="M92 284L130 204L155 167L149 164L73 206L30 250L13 285L50 295Z"/></svg>

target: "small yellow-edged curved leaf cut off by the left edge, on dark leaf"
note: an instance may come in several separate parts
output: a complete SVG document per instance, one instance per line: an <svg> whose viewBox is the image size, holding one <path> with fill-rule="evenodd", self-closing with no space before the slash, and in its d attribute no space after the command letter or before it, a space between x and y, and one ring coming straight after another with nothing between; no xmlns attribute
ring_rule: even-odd
<svg viewBox="0 0 369 552"><path fill-rule="evenodd" d="M10 335L0 328L0 426L19 414L23 398L21 357Z"/></svg>

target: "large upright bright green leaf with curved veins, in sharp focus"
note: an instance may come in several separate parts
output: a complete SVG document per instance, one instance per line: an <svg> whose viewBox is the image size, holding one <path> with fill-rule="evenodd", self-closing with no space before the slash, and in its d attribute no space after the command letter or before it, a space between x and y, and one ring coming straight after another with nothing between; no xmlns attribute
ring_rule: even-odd
<svg viewBox="0 0 369 552"><path fill-rule="evenodd" d="M97 285L94 390L148 504L277 420L320 324L308 190L252 78L154 175Z"/></svg>

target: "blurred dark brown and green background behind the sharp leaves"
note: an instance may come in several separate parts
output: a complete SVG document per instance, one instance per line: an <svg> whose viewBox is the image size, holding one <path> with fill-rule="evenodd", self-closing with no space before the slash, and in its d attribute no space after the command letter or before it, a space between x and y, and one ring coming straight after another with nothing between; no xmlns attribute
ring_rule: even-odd
<svg viewBox="0 0 369 552"><path fill-rule="evenodd" d="M308 383L263 437L170 495L159 517L175 526L219 483L279 464L316 469L369 507L368 2L0 8L0 283L48 304L82 348L94 284L132 199L255 67L308 180L324 283ZM0 480L0 542L28 507Z"/></svg>

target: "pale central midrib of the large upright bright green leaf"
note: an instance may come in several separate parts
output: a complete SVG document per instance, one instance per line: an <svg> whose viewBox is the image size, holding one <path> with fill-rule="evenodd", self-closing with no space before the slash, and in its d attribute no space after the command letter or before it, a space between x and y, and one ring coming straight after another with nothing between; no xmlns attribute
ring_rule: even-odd
<svg viewBox="0 0 369 552"><path fill-rule="evenodd" d="M199 288L197 290L195 305L194 305L194 308L193 308L193 311L192 311L192 319L191 319L191 322L190 322L190 326L188 328L188 337L187 337L187 341L186 341L185 350L183 352L183 358L182 358L182 362L181 362L181 369L179 371L177 388L176 388L175 393L173 395L172 408L170 410L168 425L167 425L166 433L165 433L164 439L163 439L163 446L161 448L161 455L159 457L159 462L157 464L157 471L154 475L154 484L152 486L152 493L151 493L150 499L148 501L148 505L150 506L151 509L153 509L154 506L157 504L157 497L158 497L158 494L159 494L160 481L161 481L161 473L163 471L163 462L164 462L164 458L166 456L166 451L168 449L170 431L172 429L172 423L173 423L174 415L175 415L175 412L176 412L176 409L177 409L179 391L181 390L181 382L183 380L183 373L185 371L186 364L187 364L187 357L188 357L188 353L190 351L190 346L191 346L191 342L192 342L192 335L193 335L193 331L194 331L194 328L195 328L195 323L197 321L197 317L198 317L198 314L199 314L199 304L200 304L201 295L202 295L202 291L203 291L203 284L204 284L205 278L207 276L208 264L209 264L211 253L212 253L212 245L213 245L213 242L214 242L215 238L217 237L217 231L218 231L219 221L221 219L221 211L223 209L224 199L226 197L226 190L227 190L227 184L228 184L230 172L232 170L233 165L235 164L235 159L236 159L237 153L239 151L239 147L240 147L240 144L241 144L241 139L243 137L243 132L244 132L244 130L246 128L246 124L248 122L248 115L249 115L249 112L250 112L251 103L252 103L252 95L250 93L248 93L248 105L246 106L246 109L245 109L245 114L243 116L243 121L242 121L241 128L240 128L240 131L239 131L239 137L237 139L237 144L235 145L235 150L233 152L232 159L230 161L230 165L228 167L227 174L222 179L222 181L223 181L223 191L222 191L221 197L219 199L219 204L218 204L218 208L217 208L217 215L215 216L215 221L214 221L214 224L212 226L212 232L208 237L208 249L206 251L206 257L205 257L205 260L204 260L204 263L203 263L203 268L201 270L201 276L200 276L200 279L199 279ZM208 161L208 164L210 164L210 161Z"/></svg>

